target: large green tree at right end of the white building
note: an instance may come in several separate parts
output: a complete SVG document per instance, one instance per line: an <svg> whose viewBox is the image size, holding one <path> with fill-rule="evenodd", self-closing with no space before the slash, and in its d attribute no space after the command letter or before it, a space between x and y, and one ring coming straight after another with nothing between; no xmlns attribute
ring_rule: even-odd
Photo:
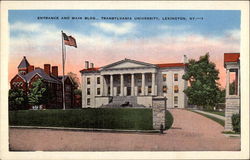
<svg viewBox="0 0 250 160"><path fill-rule="evenodd" d="M219 80L219 71L215 67L216 65L209 60L208 53L201 56L198 61L189 60L187 72L182 77L190 84L184 90L189 104L211 109L219 103L220 90L216 83Z"/></svg>

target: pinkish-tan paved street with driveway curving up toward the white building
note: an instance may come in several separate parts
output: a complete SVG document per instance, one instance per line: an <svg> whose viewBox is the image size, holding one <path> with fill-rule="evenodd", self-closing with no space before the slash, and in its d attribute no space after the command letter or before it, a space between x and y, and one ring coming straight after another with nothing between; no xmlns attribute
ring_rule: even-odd
<svg viewBox="0 0 250 160"><path fill-rule="evenodd" d="M187 110L172 109L172 129L157 133L105 133L10 129L12 150L50 151L219 151L240 150L239 137L226 137L218 123Z"/></svg>

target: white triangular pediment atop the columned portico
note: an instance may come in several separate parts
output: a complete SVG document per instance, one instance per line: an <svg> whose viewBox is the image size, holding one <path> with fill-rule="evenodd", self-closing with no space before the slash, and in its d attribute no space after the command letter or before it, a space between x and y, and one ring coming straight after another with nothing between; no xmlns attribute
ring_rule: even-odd
<svg viewBox="0 0 250 160"><path fill-rule="evenodd" d="M124 59L107 66L102 67L102 69L124 69L124 68L148 68L155 67L155 65L140 61L135 61L131 59Z"/></svg>

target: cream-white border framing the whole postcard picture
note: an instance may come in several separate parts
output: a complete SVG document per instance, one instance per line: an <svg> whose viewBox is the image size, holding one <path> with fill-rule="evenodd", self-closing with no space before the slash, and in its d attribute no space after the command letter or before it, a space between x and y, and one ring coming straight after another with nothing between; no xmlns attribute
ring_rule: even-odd
<svg viewBox="0 0 250 160"><path fill-rule="evenodd" d="M241 10L241 151L209 152L9 152L8 10L9 9L185 9ZM2 1L1 2L1 156L2 159L248 159L249 158L249 2L248 1ZM243 87L244 86L244 87ZM242 117L241 116L241 117Z"/></svg>

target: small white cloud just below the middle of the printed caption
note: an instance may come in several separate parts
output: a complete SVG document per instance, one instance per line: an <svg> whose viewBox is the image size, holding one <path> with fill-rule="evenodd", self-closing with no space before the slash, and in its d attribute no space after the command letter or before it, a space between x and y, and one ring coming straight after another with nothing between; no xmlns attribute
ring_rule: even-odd
<svg viewBox="0 0 250 160"><path fill-rule="evenodd" d="M136 24L125 22L125 23L119 23L119 24L113 24L113 23L92 23L93 26L103 30L107 33L114 33L116 35L124 35L127 33L131 33L135 31Z"/></svg>

